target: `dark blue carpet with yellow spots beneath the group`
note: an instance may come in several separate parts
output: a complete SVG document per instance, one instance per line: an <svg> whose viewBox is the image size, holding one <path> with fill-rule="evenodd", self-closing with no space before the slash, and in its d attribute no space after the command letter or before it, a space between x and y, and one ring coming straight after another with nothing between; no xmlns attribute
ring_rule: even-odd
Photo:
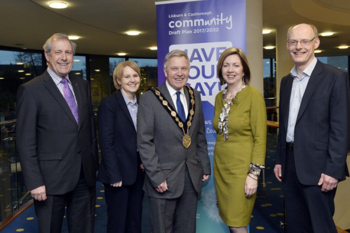
<svg viewBox="0 0 350 233"><path fill-rule="evenodd" d="M279 226L280 221L284 219L283 193L282 185L279 183L273 173L274 158L277 139L276 134L268 134L265 182L263 187L263 176L259 178L259 187L257 199L252 213L250 223L250 233L282 233L283 229ZM96 218L95 232L105 233L107 226L106 202L104 200L104 188L102 183L96 185ZM36 233L38 226L34 207L31 206L23 211L17 218L8 224L2 233ZM148 198L145 196L143 202L142 232L151 233L151 220L149 215ZM68 233L67 221L64 219L62 233ZM197 232L197 233L215 233L215 232Z"/></svg>

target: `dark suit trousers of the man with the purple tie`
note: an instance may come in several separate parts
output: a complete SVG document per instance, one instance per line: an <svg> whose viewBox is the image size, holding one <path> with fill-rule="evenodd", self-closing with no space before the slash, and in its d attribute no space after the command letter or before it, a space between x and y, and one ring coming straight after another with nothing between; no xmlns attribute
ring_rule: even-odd
<svg viewBox="0 0 350 233"><path fill-rule="evenodd" d="M87 186L82 166L79 181L72 192L47 197L46 201L34 200L39 233L61 233L66 206L69 232L94 232L96 187Z"/></svg>

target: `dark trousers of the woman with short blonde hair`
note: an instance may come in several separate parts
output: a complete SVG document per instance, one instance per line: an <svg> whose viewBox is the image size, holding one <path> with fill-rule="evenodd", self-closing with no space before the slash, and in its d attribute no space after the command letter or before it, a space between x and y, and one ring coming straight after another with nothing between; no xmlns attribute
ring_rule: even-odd
<svg viewBox="0 0 350 233"><path fill-rule="evenodd" d="M109 183L104 183L107 233L141 233L144 179L145 172L138 168L136 181L132 185L111 187Z"/></svg>

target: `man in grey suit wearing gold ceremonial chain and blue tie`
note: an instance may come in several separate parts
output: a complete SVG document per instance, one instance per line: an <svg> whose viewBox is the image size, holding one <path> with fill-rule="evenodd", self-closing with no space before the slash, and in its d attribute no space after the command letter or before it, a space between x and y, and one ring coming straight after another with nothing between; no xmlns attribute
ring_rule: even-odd
<svg viewBox="0 0 350 233"><path fill-rule="evenodd" d="M169 52L165 83L140 98L137 139L153 233L195 232L197 196L210 174L200 94L185 86L189 69L184 51Z"/></svg>

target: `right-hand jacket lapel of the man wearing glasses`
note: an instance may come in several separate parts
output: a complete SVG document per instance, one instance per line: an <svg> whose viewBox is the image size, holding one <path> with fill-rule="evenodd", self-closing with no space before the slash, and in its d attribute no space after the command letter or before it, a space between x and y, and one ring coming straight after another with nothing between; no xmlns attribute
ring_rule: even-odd
<svg viewBox="0 0 350 233"><path fill-rule="evenodd" d="M298 120L300 119L301 115L304 113L305 109L307 108L311 100L311 97L316 90L316 87L322 80L323 78L322 72L323 72L323 64L320 61L317 61L316 66L313 72L311 73L307 88L305 89L304 96L302 97L295 124L298 123Z"/></svg>

